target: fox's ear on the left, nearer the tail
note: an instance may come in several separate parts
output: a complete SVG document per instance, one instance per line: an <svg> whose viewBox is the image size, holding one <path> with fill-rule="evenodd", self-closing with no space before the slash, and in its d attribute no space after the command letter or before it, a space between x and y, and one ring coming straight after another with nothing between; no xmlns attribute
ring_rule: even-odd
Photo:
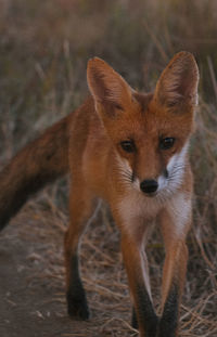
<svg viewBox="0 0 217 337"><path fill-rule="evenodd" d="M124 111L131 101L129 85L101 59L89 60L87 80L97 108L103 106L111 116L115 115L115 109Z"/></svg>

